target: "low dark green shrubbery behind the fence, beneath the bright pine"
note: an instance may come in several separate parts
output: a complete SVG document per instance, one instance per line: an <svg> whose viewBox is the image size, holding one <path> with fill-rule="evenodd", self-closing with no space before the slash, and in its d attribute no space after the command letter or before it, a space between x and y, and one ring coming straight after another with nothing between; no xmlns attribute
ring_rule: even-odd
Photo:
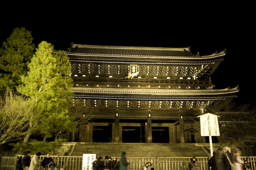
<svg viewBox="0 0 256 170"><path fill-rule="evenodd" d="M18 143L11 143L10 146L13 147L10 154L23 154L27 150L31 151L31 154L36 154L37 152L41 152L42 155L46 155L48 152L51 153L51 155L55 155L57 152L57 149L60 148L60 146L66 142L66 139L57 139L52 142L44 142L44 141L38 141L36 139L31 139L29 143L25 142L18 142Z"/></svg>

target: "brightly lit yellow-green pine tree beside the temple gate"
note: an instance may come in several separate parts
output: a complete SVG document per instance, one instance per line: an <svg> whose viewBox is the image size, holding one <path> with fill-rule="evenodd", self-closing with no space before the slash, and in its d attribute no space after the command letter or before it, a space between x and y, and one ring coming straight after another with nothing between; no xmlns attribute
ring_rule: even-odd
<svg viewBox="0 0 256 170"><path fill-rule="evenodd" d="M40 118L31 119L31 132L39 131L45 137L60 131L74 132L76 122L68 116L74 95L73 80L69 76L71 66L65 51L53 53L53 46L42 41L28 67L27 76L21 76L24 85L18 86L17 90L38 101L38 109L43 110ZM39 121L39 126L33 126L34 121Z"/></svg>

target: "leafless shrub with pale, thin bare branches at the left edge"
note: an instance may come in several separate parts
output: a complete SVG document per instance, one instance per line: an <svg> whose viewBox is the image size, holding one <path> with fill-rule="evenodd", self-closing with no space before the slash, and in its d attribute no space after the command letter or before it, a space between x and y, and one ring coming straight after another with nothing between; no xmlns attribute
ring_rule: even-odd
<svg viewBox="0 0 256 170"><path fill-rule="evenodd" d="M22 140L29 128L29 119L35 115L35 102L27 98L5 92L0 99L0 145Z"/></svg>

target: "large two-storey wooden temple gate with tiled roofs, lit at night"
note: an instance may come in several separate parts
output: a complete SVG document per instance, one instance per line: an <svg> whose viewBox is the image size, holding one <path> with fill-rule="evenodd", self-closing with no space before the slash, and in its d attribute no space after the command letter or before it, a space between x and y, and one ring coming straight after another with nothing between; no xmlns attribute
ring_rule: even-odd
<svg viewBox="0 0 256 170"><path fill-rule="evenodd" d="M210 75L225 50L208 56L188 48L96 46L71 43L73 106L84 107L70 141L205 143L184 123L213 101L236 97L236 88L214 90Z"/></svg>

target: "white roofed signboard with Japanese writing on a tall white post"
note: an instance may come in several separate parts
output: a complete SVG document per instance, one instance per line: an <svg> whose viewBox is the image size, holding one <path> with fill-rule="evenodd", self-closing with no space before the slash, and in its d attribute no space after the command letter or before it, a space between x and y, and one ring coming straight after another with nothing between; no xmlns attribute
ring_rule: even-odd
<svg viewBox="0 0 256 170"><path fill-rule="evenodd" d="M218 117L217 115L206 113L200 116L201 136L209 136L211 156L213 155L212 149L212 136L220 136Z"/></svg>

